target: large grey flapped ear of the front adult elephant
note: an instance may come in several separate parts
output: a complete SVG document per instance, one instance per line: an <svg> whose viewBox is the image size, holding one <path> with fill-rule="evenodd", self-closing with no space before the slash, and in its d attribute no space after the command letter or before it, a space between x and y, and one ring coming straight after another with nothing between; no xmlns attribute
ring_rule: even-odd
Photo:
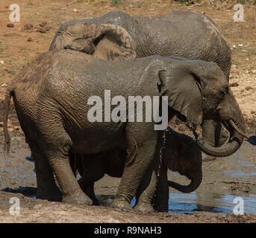
<svg viewBox="0 0 256 238"><path fill-rule="evenodd" d="M180 112L192 125L202 124L202 100L205 70L196 60L172 60L171 70L159 72L162 88L166 89L169 106ZM207 65L205 65L207 66Z"/></svg>

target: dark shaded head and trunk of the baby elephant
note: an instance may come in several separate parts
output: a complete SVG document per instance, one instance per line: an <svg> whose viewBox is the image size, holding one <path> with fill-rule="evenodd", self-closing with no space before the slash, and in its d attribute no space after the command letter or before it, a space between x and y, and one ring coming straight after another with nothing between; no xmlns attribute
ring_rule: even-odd
<svg viewBox="0 0 256 238"><path fill-rule="evenodd" d="M202 182L202 152L192 138L179 134L170 128L165 131L165 137L163 164L170 170L191 180L188 185L169 181L169 186L183 193L191 193Z"/></svg>

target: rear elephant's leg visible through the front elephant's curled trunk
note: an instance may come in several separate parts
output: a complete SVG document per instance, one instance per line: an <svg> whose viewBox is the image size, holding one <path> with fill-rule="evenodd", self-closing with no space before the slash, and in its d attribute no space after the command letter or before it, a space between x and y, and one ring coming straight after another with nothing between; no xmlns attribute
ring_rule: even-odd
<svg viewBox="0 0 256 238"><path fill-rule="evenodd" d="M222 124L215 120L203 121L202 140L207 141L213 147L220 147L228 139L228 133L225 132ZM216 157L202 153L202 161L213 161Z"/></svg>

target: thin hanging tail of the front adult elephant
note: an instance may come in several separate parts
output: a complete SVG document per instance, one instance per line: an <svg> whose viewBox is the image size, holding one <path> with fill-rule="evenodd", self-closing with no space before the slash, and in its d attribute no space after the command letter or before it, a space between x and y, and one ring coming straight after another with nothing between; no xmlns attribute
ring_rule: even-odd
<svg viewBox="0 0 256 238"><path fill-rule="evenodd" d="M8 155L10 152L10 135L7 129L7 121L10 107L10 97L13 96L13 92L13 84L10 83L10 86L8 86L5 91L4 99L4 155Z"/></svg>

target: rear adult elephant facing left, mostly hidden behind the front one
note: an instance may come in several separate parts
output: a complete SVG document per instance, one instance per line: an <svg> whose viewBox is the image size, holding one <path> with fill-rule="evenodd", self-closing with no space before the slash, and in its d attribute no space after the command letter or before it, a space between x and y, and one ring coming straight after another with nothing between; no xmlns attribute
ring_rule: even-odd
<svg viewBox="0 0 256 238"><path fill-rule="evenodd" d="M228 43L210 17L193 10L176 10L154 17L113 11L96 19L73 20L60 26L50 50L71 48L102 59L118 60L122 43L113 39L113 34L95 33L95 29L100 29L102 24L125 28L134 39L138 58L161 55L212 61L229 78L231 50ZM102 51L102 48L105 50ZM204 121L203 141L219 147L227 138L219 122ZM210 161L215 157L204 155L203 159Z"/></svg>

